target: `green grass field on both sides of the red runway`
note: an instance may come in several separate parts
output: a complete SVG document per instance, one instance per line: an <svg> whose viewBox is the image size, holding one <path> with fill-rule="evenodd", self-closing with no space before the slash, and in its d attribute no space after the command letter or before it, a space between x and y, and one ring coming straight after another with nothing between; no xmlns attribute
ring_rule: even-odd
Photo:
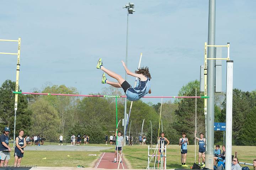
<svg viewBox="0 0 256 170"><path fill-rule="evenodd" d="M53 143L52 143L53 144ZM57 145L57 143L55 143ZM91 144L91 146L105 146L105 144ZM109 145L108 145L109 146ZM155 147L155 146L153 146ZM198 146L197 146L198 147ZM256 146L233 146L232 153L238 152L237 157L241 162L252 163L256 159ZM86 168L94 167L100 154L102 152L114 152L114 147L108 150L101 150L101 152L87 152L87 151L26 151L22 158L23 165L37 165L37 166L68 166L76 167L77 165L84 165ZM14 152L11 152L11 159L9 164L14 163ZM89 154L97 154L97 156L89 156ZM125 159L128 161L127 165L133 169L145 169L148 164L148 146L126 146L123 151ZM152 151L151 151L152 154ZM69 155L69 157L68 157ZM46 158L46 159L42 159ZM167 147L167 161L166 168L181 168L181 154L180 146L169 145ZM198 148L196 149L196 162L198 162ZM194 163L194 145L188 146L188 154L186 164L192 166ZM189 169L189 167L188 167Z"/></svg>

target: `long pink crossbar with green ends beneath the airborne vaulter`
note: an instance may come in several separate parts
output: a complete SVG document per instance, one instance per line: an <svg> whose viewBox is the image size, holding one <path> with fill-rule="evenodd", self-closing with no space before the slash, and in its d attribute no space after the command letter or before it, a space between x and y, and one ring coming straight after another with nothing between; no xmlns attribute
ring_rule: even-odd
<svg viewBox="0 0 256 170"><path fill-rule="evenodd" d="M35 95L62 95L62 96L80 96L80 97L126 97L126 95L82 95L82 94L54 94L54 93L28 93L28 92L12 92L14 94L35 94ZM209 98L209 96L144 96L143 98Z"/></svg>

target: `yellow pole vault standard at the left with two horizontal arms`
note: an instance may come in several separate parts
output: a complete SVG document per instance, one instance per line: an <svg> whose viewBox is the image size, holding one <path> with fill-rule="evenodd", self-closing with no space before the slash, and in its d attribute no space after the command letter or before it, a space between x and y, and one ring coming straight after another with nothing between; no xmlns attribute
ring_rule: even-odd
<svg viewBox="0 0 256 170"><path fill-rule="evenodd" d="M19 80L19 75L20 75L20 45L21 45L21 38L19 37L18 40L0 39L0 41L18 42L18 53L0 53L0 54L17 55L15 92L18 92L18 80ZM15 130L16 130L16 113L17 113L17 109L18 109L18 93L15 94L15 103L14 103L14 143L15 143Z"/></svg>

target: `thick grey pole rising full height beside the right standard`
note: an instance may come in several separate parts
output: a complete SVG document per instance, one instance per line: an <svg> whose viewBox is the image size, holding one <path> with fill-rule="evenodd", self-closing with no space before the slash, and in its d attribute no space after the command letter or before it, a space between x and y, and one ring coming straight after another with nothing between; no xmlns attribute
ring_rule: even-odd
<svg viewBox="0 0 256 170"><path fill-rule="evenodd" d="M216 1L209 0L208 17L208 45L215 45L215 12ZM208 58L215 58L215 47L208 47ZM214 154L214 70L215 60L207 61L207 145L206 145L206 168L213 169Z"/></svg>

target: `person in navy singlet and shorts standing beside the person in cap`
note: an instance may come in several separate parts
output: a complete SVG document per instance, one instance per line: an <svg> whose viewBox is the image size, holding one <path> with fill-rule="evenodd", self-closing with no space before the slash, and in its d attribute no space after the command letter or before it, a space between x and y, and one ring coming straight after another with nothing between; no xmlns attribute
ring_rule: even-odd
<svg viewBox="0 0 256 170"><path fill-rule="evenodd" d="M24 149L27 146L27 143L25 142L25 138L23 138L24 135L24 131L23 130L19 130L19 136L16 137L15 141L16 141L16 147L14 149L14 157L15 157L15 161L14 161L14 166L15 167L20 167L20 163L21 163L21 159L23 157L23 153L24 153Z"/></svg>

